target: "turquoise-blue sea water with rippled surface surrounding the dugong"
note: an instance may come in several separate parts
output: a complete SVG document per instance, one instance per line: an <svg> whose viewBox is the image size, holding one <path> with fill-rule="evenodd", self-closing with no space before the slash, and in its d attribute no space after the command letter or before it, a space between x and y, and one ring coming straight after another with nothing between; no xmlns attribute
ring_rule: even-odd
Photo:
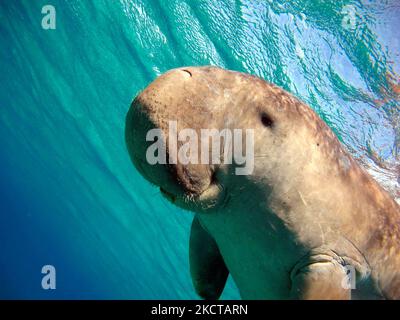
<svg viewBox="0 0 400 320"><path fill-rule="evenodd" d="M0 298L196 298L192 216L124 145L132 98L179 66L289 90L400 198L399 16L398 1L1 1Z"/></svg>

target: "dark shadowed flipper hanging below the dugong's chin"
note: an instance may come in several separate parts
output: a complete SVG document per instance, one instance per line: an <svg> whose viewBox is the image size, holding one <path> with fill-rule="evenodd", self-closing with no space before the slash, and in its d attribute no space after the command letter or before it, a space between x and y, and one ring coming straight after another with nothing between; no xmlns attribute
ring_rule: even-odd
<svg viewBox="0 0 400 320"><path fill-rule="evenodd" d="M218 299L229 271L215 240L194 217L189 247L190 273L197 294L203 299Z"/></svg>

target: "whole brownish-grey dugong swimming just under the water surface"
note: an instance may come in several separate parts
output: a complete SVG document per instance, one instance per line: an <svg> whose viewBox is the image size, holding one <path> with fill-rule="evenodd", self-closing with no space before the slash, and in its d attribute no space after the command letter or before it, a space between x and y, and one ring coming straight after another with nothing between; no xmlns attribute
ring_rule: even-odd
<svg viewBox="0 0 400 320"><path fill-rule="evenodd" d="M146 133L167 135L169 120L178 130L254 129L253 173L148 164ZM399 205L284 90L216 67L171 70L133 101L126 143L139 172L195 213L190 269L201 297L218 298L230 273L245 299L400 298Z"/></svg>

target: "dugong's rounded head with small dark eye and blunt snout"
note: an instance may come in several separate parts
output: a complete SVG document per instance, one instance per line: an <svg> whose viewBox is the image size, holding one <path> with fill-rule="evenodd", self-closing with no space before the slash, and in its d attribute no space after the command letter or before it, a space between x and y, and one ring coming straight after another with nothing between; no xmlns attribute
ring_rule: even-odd
<svg viewBox="0 0 400 320"><path fill-rule="evenodd" d="M276 169L287 152L296 152L282 152L282 145L306 139L300 109L291 95L255 76L217 67L174 69L132 102L126 144L137 170L177 206L218 209L233 192L286 179ZM214 138L221 138L219 145Z"/></svg>

